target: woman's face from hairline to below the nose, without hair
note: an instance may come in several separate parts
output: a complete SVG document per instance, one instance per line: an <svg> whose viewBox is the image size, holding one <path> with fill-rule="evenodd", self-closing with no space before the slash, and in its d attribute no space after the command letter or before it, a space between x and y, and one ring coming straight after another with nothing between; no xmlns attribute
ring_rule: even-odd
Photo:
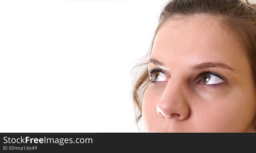
<svg viewBox="0 0 256 153"><path fill-rule="evenodd" d="M254 132L249 60L216 20L195 15L166 21L150 59L144 132Z"/></svg>

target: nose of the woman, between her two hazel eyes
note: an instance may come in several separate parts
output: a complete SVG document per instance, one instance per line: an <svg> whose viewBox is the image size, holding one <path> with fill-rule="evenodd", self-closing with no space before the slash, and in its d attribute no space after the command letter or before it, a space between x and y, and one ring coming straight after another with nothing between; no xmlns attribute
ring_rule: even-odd
<svg viewBox="0 0 256 153"><path fill-rule="evenodd" d="M157 103L157 113L162 117L175 118L177 120L188 118L190 108L184 89L182 82L179 83L174 79L170 79L161 99Z"/></svg>

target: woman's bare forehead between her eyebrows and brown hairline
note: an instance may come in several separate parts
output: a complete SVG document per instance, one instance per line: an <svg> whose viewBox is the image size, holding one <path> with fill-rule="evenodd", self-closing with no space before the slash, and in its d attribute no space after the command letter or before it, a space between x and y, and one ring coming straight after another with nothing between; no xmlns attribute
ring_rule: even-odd
<svg viewBox="0 0 256 153"><path fill-rule="evenodd" d="M151 57L175 67L209 61L237 67L247 61L241 44L206 15L166 21L154 39Z"/></svg>

